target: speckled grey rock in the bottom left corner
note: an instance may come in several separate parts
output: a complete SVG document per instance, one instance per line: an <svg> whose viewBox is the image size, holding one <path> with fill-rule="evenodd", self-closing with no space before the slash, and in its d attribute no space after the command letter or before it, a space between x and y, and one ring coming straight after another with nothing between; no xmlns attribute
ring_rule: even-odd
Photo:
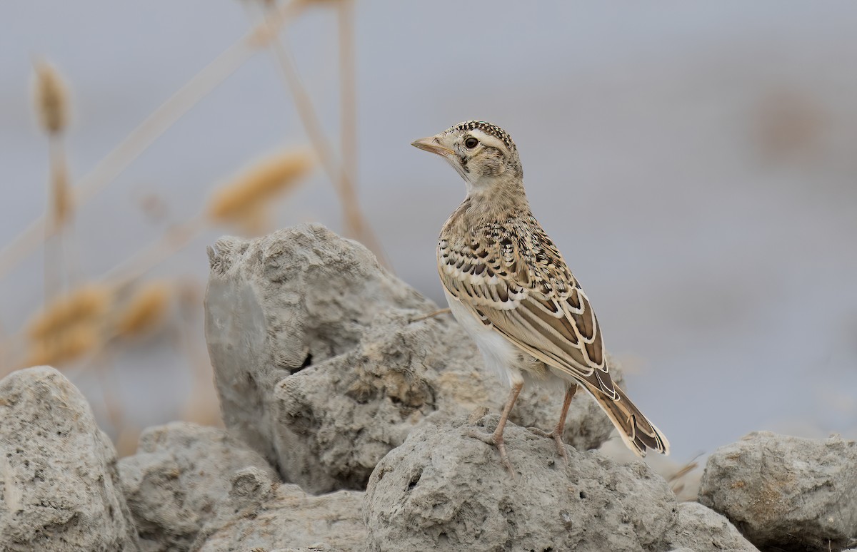
<svg viewBox="0 0 857 552"><path fill-rule="evenodd" d="M53 368L0 381L0 549L137 550L116 451Z"/></svg>

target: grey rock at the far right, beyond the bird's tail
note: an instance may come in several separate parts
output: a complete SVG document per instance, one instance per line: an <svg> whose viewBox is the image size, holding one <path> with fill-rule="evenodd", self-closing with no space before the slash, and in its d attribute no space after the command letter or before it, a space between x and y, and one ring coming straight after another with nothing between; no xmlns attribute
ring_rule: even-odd
<svg viewBox="0 0 857 552"><path fill-rule="evenodd" d="M857 442L751 433L711 454L699 502L725 515L759 548L853 546Z"/></svg>

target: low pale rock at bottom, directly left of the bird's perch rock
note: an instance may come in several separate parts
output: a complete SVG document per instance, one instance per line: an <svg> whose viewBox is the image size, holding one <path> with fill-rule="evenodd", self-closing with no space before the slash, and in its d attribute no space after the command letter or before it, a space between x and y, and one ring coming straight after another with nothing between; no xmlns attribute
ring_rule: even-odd
<svg viewBox="0 0 857 552"><path fill-rule="evenodd" d="M297 485L273 482L256 467L236 472L231 485L192 551L363 549L363 493L309 496Z"/></svg>

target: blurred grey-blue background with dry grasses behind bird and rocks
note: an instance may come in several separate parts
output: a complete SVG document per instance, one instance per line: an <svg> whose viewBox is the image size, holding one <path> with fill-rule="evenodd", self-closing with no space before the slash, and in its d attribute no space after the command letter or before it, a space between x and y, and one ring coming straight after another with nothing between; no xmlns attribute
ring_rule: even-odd
<svg viewBox="0 0 857 552"><path fill-rule="evenodd" d="M857 437L857 4L0 4L0 376L51 363L121 454L219 423L205 246L309 221L441 301L467 119L674 460ZM49 239L45 240L45 235Z"/></svg>

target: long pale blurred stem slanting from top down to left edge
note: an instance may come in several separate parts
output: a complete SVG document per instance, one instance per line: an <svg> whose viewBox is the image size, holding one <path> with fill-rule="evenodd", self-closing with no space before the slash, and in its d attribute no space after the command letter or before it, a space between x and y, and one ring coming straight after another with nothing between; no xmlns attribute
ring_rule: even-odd
<svg viewBox="0 0 857 552"><path fill-rule="evenodd" d="M110 153L108 153L89 174L81 178L75 188L76 205L82 205L100 189L110 184L133 162L155 139L177 122L190 108L204 98L226 77L241 67L255 51L267 41L268 33L285 25L307 5L306 0L294 0L280 7L264 26L256 27L244 35L234 45L209 63L182 88L154 110L150 116L131 131ZM27 229L16 235L0 251L0 278L6 275L16 264L26 258L29 252L39 246L44 237L53 235L57 229L45 224L45 216L30 223Z"/></svg>

